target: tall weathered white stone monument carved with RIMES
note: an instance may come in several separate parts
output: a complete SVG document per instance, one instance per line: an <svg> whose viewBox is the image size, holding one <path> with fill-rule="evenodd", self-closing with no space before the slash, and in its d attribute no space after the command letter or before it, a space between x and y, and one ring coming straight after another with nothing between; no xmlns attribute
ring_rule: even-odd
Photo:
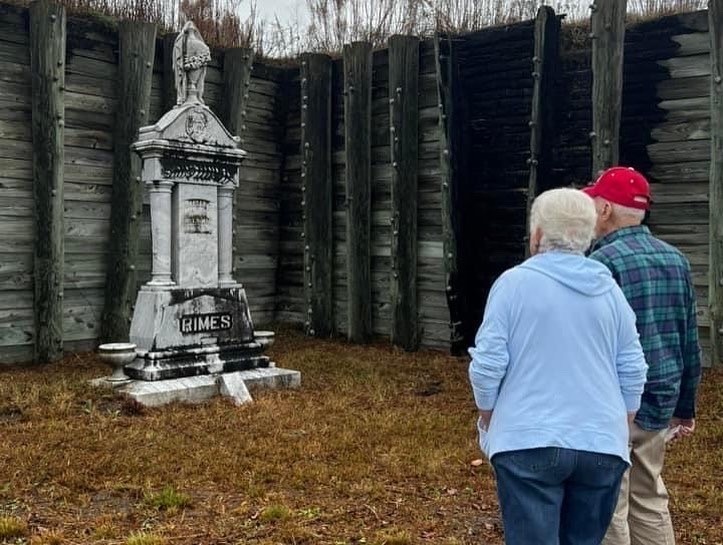
<svg viewBox="0 0 723 545"><path fill-rule="evenodd" d="M232 276L233 192L246 153L203 102L210 60L198 30L186 23L173 49L177 103L141 128L132 146L150 193L153 262L130 328L137 346L136 359L125 367L136 382L127 387L131 395L159 389L140 381L172 389L174 379L227 380L224 374L246 370L268 369L284 386L299 383L298 372L275 369L263 354L273 334L254 331L246 293ZM223 392L228 384L218 388Z"/></svg>

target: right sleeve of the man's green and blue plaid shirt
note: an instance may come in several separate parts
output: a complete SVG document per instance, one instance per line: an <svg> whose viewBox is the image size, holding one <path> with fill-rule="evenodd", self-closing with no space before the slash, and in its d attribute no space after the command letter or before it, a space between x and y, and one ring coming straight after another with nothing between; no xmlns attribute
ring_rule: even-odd
<svg viewBox="0 0 723 545"><path fill-rule="evenodd" d="M695 418L695 401L701 375L700 343L698 340L698 320L695 302L695 288L688 281L689 305L686 320L686 335L683 337L683 374L680 382L680 395L673 416L689 420Z"/></svg>

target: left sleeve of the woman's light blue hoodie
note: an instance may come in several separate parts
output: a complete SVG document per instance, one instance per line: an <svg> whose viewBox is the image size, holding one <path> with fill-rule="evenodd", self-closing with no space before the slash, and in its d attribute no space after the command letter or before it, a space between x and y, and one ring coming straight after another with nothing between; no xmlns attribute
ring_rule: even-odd
<svg viewBox="0 0 723 545"><path fill-rule="evenodd" d="M475 337L475 346L469 349L472 356L469 379L477 407L483 411L494 409L510 360L509 292L509 279L503 275L490 291L484 319Z"/></svg>

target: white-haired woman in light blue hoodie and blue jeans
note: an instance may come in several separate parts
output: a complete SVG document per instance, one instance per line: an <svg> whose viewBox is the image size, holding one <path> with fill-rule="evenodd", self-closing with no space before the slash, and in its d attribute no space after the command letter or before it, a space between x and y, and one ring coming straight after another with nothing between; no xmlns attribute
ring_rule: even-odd
<svg viewBox="0 0 723 545"><path fill-rule="evenodd" d="M595 221L580 191L535 200L532 257L495 282L470 349L508 545L599 545L629 464L647 365L622 291L584 257Z"/></svg>

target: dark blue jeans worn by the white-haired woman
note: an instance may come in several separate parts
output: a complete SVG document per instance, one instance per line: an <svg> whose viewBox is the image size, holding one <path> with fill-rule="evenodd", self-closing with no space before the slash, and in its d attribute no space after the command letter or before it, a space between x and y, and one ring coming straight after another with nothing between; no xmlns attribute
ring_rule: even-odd
<svg viewBox="0 0 723 545"><path fill-rule="evenodd" d="M628 465L564 448L492 457L507 545L600 545Z"/></svg>

